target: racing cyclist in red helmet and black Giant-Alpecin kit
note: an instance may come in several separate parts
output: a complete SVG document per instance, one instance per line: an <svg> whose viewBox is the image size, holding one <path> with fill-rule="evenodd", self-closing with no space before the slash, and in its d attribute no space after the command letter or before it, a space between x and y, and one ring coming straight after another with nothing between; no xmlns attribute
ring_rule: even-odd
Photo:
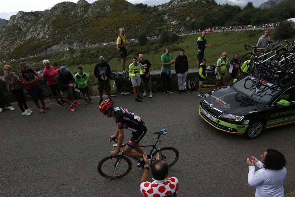
<svg viewBox="0 0 295 197"><path fill-rule="evenodd" d="M127 143L127 146L123 149L123 155L128 157L137 157L143 158L143 150L141 148L136 148L140 140L145 136L147 132L147 128L145 123L141 120L141 118L134 113L130 112L127 109L121 107L113 107L112 100L108 99L99 105L99 111L103 113L108 118L114 118L114 121L118 125L118 129L116 133L110 136L110 141L118 137L117 148L110 153L110 157L115 157L122 146L124 140L124 128L132 131L132 137ZM134 149L136 152L132 152ZM148 159L152 159L151 155L148 155ZM144 162L144 161L143 161Z"/></svg>

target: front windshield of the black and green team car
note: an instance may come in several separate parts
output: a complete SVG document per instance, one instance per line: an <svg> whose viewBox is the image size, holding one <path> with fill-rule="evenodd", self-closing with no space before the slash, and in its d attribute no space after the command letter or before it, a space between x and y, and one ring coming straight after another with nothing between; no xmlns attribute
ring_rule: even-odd
<svg viewBox="0 0 295 197"><path fill-rule="evenodd" d="M254 100L268 102L281 91L276 84L272 84L249 75L232 85L237 92L240 92Z"/></svg>

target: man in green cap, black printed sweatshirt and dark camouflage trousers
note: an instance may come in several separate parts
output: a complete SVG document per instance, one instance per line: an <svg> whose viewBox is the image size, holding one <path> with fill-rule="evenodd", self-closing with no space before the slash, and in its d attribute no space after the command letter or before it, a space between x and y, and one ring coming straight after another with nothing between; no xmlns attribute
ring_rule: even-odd
<svg viewBox="0 0 295 197"><path fill-rule="evenodd" d="M111 99L111 84L109 76L111 75L111 68L108 63L104 62L104 57L99 57L99 63L94 67L94 75L98 79L99 104L103 101L102 94L105 91L109 99Z"/></svg>

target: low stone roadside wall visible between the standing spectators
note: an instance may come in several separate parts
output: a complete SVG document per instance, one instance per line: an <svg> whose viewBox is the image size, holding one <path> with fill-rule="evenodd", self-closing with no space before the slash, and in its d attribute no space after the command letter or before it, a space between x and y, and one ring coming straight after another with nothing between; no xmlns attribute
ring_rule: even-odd
<svg viewBox="0 0 295 197"><path fill-rule="evenodd" d="M129 80L129 76L126 74L123 74L123 73L121 73L121 74L122 74L123 80L124 80L123 90L127 90L129 92L132 92L132 87L131 87L132 85ZM163 79L161 79L160 74L161 74L161 71L151 71L151 73L150 73L153 92L162 92L163 91ZM204 81L204 84L214 85L216 82L215 72L214 71L207 71L207 75L208 75L208 78ZM188 87L189 80L193 80L196 84L196 88L198 88L199 72L196 71L195 69L189 69L189 72L186 77L187 89L189 89L189 87ZM3 87L4 94L8 97L8 99L10 101L16 101L14 96L12 94L9 94L9 92L7 91L7 87L6 87L5 82L1 83L0 85ZM52 97L51 91L46 83L39 82L39 85L40 85L40 87L43 91L43 94L46 98ZM89 87L90 87L90 85L89 85ZM178 90L178 80L177 80L177 74L176 74L175 70L172 70L171 88L173 90ZM27 91L24 90L24 94L25 94L25 97L27 98L27 100L31 100L31 97ZM98 94L98 92L97 92L97 94Z"/></svg>

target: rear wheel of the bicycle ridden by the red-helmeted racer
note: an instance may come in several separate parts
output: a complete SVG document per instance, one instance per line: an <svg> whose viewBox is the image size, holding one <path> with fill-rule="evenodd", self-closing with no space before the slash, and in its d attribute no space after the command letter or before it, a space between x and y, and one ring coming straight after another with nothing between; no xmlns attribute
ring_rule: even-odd
<svg viewBox="0 0 295 197"><path fill-rule="evenodd" d="M179 158L179 152L176 148L173 147L164 147L160 148L160 150L153 153L153 160L157 158L157 153L160 154L160 159L164 159L168 162L169 167L173 166L178 158Z"/></svg>

